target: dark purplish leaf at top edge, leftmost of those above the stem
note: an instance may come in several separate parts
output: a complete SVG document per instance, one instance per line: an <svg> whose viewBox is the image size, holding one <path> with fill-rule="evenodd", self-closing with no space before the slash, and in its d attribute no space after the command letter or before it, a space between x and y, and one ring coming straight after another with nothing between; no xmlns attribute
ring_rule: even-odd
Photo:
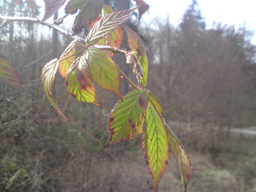
<svg viewBox="0 0 256 192"><path fill-rule="evenodd" d="M55 14L55 12L57 12L57 10L60 9L61 6L64 5L65 2L66 0L44 0L44 10L46 10L46 12L39 23L43 23L49 19L53 14Z"/></svg>

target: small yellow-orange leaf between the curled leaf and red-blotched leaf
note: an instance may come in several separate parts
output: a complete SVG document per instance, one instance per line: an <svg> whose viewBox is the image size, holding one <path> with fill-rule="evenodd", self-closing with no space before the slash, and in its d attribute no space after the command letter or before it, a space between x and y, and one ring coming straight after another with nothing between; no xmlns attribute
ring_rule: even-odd
<svg viewBox="0 0 256 192"><path fill-rule="evenodd" d="M74 54L76 52L76 49L75 47L73 47L69 52L67 52L66 55L61 55L60 56L60 59L63 59L64 57L67 57L67 56L71 56L72 54ZM63 61L60 61L59 63L59 72L60 72L60 75L65 78L66 77L66 74L69 70L69 68L71 67L71 65L73 64L73 62L76 60L76 56L73 55L71 57L68 57L68 59L65 59Z"/></svg>

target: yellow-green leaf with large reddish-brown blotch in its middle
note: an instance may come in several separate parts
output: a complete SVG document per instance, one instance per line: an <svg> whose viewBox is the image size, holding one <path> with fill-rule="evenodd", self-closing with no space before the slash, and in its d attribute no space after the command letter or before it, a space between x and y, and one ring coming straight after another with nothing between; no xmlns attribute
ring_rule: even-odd
<svg viewBox="0 0 256 192"><path fill-rule="evenodd" d="M98 105L92 75L84 56L79 57L68 70L65 85L77 100Z"/></svg>

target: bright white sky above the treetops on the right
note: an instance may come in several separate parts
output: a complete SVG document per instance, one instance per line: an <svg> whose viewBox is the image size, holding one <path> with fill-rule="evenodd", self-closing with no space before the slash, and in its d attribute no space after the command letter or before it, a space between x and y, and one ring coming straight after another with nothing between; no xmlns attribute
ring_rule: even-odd
<svg viewBox="0 0 256 192"><path fill-rule="evenodd" d="M148 13L142 16L147 21L158 16L166 19L169 15L170 23L177 26L192 0L144 0L150 5ZM253 30L252 43L256 44L256 0L197 0L201 15L205 18L207 28L212 27L213 22L221 22L228 26L243 26L247 30Z"/></svg>

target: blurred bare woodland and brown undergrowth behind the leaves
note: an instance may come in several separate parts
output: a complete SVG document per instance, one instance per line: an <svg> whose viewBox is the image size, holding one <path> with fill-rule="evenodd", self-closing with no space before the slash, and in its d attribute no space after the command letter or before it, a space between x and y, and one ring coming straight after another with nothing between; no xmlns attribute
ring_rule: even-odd
<svg viewBox="0 0 256 192"><path fill-rule="evenodd" d="M105 3L116 11L133 6L127 0ZM6 16L38 17L43 11L34 0L2 0L0 7ZM16 67L30 95L0 84L0 191L152 191L140 137L101 147L108 139L108 115L118 100L113 93L96 87L102 107L81 103L57 76L55 99L69 126L56 114L40 77L43 66L59 57L71 39L33 25L11 22L0 30L0 53ZM232 132L256 129L252 32L222 23L206 30L195 0L178 27L168 19L146 25L131 20L127 25L146 48L147 89L159 98L164 118L191 158L194 174L188 191L256 191L256 137ZM114 58L137 82L133 66L123 56ZM125 81L121 89L123 95L132 90ZM171 156L159 191L183 190Z"/></svg>

